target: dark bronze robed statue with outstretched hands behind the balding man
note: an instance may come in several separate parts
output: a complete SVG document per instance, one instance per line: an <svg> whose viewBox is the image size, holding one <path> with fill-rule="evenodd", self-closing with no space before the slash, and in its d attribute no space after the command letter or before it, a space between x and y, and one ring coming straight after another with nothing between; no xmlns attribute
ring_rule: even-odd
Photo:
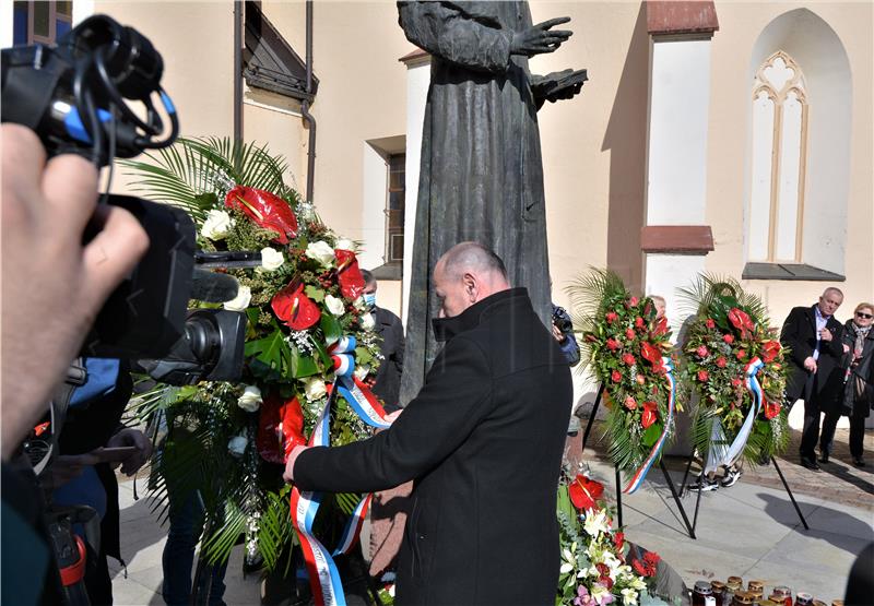
<svg viewBox="0 0 874 606"><path fill-rule="evenodd" d="M579 93L586 71L532 75L528 58L553 52L569 17L532 25L528 2L399 1L410 41L428 51L430 88L422 133L406 357L405 405L437 353L430 320L434 263L453 245L475 240L507 264L550 325L550 268L536 111Z"/></svg>

